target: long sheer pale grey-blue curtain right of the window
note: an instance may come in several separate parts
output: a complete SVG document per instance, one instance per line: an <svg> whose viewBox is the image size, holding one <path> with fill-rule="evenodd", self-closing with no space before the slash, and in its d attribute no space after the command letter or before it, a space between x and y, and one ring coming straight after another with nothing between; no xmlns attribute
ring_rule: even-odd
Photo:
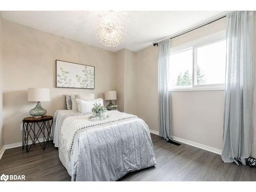
<svg viewBox="0 0 256 192"><path fill-rule="evenodd" d="M227 15L222 160L245 164L252 145L253 11Z"/></svg>

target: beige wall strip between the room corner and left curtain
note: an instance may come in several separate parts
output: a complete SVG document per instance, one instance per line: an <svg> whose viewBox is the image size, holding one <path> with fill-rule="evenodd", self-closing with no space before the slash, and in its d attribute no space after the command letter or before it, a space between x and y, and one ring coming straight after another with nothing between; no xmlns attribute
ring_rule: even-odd
<svg viewBox="0 0 256 192"><path fill-rule="evenodd" d="M136 52L136 115L158 131L158 48Z"/></svg>

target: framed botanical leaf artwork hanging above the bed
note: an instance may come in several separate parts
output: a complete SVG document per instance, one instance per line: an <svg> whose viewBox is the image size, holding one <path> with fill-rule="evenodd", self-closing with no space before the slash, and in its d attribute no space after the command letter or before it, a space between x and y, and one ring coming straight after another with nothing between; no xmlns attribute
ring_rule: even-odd
<svg viewBox="0 0 256 192"><path fill-rule="evenodd" d="M56 60L57 88L95 88L95 67Z"/></svg>

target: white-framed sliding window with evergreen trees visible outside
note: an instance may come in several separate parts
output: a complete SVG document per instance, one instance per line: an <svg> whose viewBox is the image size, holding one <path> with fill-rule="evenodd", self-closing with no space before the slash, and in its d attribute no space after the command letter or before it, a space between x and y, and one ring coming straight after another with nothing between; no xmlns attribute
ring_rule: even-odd
<svg viewBox="0 0 256 192"><path fill-rule="evenodd" d="M224 89L225 66L224 31L172 48L169 68L170 90Z"/></svg>

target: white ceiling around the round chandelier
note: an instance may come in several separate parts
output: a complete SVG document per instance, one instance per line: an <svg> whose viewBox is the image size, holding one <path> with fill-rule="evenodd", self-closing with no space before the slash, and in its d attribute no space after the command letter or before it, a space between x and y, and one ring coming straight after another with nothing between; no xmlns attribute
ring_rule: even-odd
<svg viewBox="0 0 256 192"><path fill-rule="evenodd" d="M94 33L98 11L1 11L3 18L110 51L139 51L223 11L124 11L125 39L115 48L101 45Z"/></svg>

